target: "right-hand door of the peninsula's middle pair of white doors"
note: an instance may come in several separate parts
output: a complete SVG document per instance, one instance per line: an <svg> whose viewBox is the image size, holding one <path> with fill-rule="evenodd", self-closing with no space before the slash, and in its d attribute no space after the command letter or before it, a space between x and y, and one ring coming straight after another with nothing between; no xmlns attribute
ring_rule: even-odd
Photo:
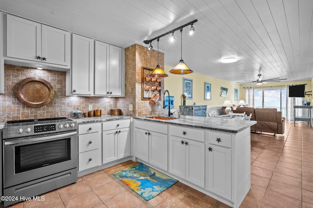
<svg viewBox="0 0 313 208"><path fill-rule="evenodd" d="M205 144L186 140L186 180L204 188Z"/></svg>

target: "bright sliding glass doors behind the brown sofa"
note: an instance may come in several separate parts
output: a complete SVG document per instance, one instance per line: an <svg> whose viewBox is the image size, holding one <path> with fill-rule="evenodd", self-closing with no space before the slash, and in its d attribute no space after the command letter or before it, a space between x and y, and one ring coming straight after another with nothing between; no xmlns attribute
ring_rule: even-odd
<svg viewBox="0 0 313 208"><path fill-rule="evenodd" d="M254 91L255 108L276 108L286 116L287 90L283 88L259 88Z"/></svg>

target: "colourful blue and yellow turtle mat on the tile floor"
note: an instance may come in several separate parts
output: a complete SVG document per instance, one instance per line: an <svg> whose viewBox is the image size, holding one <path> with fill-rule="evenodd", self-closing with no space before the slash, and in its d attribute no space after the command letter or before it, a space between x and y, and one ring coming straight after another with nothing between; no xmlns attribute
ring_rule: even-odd
<svg viewBox="0 0 313 208"><path fill-rule="evenodd" d="M112 175L147 201L178 182L142 163L119 170Z"/></svg>

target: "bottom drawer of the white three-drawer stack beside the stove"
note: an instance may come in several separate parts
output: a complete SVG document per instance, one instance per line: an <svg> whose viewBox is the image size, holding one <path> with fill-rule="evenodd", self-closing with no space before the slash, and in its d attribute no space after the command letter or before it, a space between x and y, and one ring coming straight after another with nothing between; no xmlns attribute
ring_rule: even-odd
<svg viewBox="0 0 313 208"><path fill-rule="evenodd" d="M100 150L85 151L78 154L78 171L100 165Z"/></svg>

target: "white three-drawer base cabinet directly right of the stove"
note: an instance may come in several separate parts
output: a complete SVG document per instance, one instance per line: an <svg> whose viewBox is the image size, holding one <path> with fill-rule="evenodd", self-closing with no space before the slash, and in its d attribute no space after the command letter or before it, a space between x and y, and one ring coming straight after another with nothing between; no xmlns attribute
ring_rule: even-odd
<svg viewBox="0 0 313 208"><path fill-rule="evenodd" d="M100 123L78 125L78 171L101 164Z"/></svg>

